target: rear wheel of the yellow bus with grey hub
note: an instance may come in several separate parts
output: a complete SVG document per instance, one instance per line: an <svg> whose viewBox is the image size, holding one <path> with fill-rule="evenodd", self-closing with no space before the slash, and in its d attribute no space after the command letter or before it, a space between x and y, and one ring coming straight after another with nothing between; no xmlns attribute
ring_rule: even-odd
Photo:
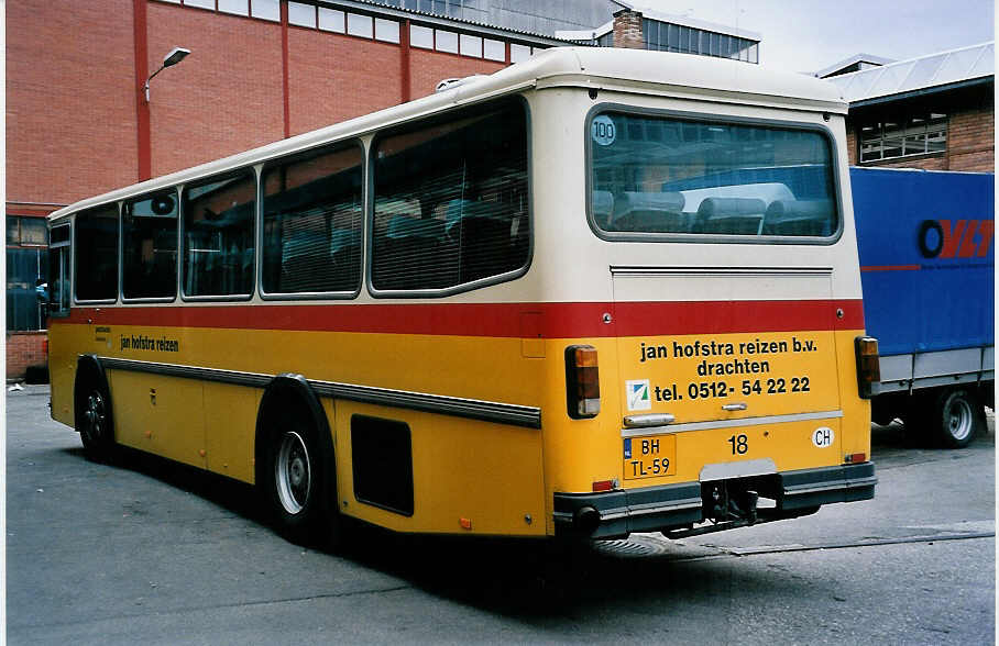
<svg viewBox="0 0 999 646"><path fill-rule="evenodd" d="M315 425L300 416L272 420L261 474L272 520L277 531L293 543L309 544L326 538L321 530L329 524L325 521L330 500L330 460L323 455ZM336 501L336 493L332 500Z"/></svg>

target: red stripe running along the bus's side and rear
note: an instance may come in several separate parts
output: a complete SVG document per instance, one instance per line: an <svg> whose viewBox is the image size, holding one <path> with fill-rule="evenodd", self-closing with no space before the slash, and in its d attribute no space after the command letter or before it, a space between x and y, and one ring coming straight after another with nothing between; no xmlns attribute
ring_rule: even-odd
<svg viewBox="0 0 999 646"><path fill-rule="evenodd" d="M842 315L837 315L837 310ZM604 315L611 323L604 323ZM859 330L859 299L621 303L371 303L74 308L70 323L578 338Z"/></svg>

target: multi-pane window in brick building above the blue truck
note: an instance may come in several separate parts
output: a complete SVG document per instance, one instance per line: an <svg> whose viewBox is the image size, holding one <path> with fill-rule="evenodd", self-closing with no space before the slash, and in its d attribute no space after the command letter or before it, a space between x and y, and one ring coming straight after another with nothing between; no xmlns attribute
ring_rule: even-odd
<svg viewBox="0 0 999 646"><path fill-rule="evenodd" d="M919 112L898 119L870 120L860 125L860 162L945 153L947 115Z"/></svg>

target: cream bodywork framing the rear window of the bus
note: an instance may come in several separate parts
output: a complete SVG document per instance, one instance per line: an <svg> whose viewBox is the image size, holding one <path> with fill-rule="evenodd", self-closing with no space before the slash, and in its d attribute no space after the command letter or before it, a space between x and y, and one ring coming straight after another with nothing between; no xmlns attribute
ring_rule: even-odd
<svg viewBox="0 0 999 646"><path fill-rule="evenodd" d="M739 65L735 63L734 65ZM742 64L745 65L745 64ZM545 285L549 297L560 301L610 299L611 267L645 268L798 268L832 274L833 298L859 298L853 204L849 198L846 133L843 116L814 109L789 109L739 104L706 97L677 98L669 89L658 96L650 92L624 92L584 87L559 87L536 92L533 101L534 132L534 209L535 254L533 271L548 276ZM694 122L757 123L780 129L790 127L822 133L830 145L834 176L832 196L838 211L839 226L824 241L733 240L724 236L641 236L633 240L602 240L588 220L588 182L590 169L588 116L603 110L671 118ZM762 193L781 187L754 187ZM787 191L786 188L782 189ZM698 197L696 191L690 191ZM769 193L767 193L769 196ZM780 196L769 196L779 198ZM571 267L571 271L567 268ZM560 276L553 281L552 276ZM690 296L690 294L688 294ZM747 294L749 297L749 294ZM682 294L671 298L683 299Z"/></svg>

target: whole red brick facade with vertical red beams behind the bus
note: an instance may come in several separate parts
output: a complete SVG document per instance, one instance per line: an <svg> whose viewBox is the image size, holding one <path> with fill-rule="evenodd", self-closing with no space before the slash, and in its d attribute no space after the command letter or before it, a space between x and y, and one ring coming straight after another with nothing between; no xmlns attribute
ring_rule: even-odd
<svg viewBox="0 0 999 646"><path fill-rule="evenodd" d="M408 47L405 22L396 44L158 0L19 0L7 21L8 208L141 179L139 43L150 73L173 47L191 51L150 85L153 176L282 138L286 100L294 135L506 65Z"/></svg>

